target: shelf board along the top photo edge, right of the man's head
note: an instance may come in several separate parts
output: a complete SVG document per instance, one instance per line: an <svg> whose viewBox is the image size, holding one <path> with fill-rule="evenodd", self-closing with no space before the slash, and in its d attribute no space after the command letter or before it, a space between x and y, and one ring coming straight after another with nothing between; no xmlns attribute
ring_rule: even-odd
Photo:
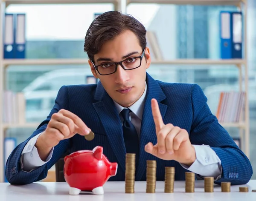
<svg viewBox="0 0 256 201"><path fill-rule="evenodd" d="M176 4L176 5L234 5L245 3L246 0L128 0L130 3L157 3L157 4Z"/></svg>

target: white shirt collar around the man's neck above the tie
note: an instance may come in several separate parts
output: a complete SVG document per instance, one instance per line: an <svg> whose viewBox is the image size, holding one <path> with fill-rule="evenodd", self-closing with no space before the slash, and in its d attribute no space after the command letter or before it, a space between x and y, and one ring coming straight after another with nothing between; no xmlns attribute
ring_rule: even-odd
<svg viewBox="0 0 256 201"><path fill-rule="evenodd" d="M146 92L147 92L147 83L145 83L145 90L143 92L143 95L139 98L139 100L137 100L133 105L131 105L130 107L128 107L129 109L131 109L131 111L138 117L140 118L140 120L142 120L142 115L143 115L143 107L144 107L144 103L145 103L145 96L146 96ZM114 101L114 104L116 106L117 112L118 114L122 111L122 109L124 109L125 107L120 106L118 103L116 103L116 101Z"/></svg>

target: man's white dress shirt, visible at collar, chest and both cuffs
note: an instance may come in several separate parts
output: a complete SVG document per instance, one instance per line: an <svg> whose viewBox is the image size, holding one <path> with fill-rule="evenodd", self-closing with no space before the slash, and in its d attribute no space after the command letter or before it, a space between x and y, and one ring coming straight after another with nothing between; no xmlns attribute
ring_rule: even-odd
<svg viewBox="0 0 256 201"><path fill-rule="evenodd" d="M129 118L136 128L139 138L146 91L147 84L145 84L145 90L140 99L129 107L129 109L131 109L132 111L129 115ZM114 104L122 122L123 118L120 112L122 111L122 109L124 109L124 107L120 106L115 101ZM21 168L23 169L23 171L30 172L33 169L47 163L52 158L52 152L54 150L54 147L51 149L46 161L42 161L39 157L37 148L35 147L35 143L39 135L41 135L41 133L31 138L23 149L22 157L20 159ZM183 168L188 169L191 172L195 172L195 174L198 174L202 177L214 177L215 180L218 180L221 177L222 172L221 160L219 159L218 155L208 145L202 144L193 146L195 147L196 154L196 160L194 161L194 163L190 167L186 166L185 164L180 165Z"/></svg>

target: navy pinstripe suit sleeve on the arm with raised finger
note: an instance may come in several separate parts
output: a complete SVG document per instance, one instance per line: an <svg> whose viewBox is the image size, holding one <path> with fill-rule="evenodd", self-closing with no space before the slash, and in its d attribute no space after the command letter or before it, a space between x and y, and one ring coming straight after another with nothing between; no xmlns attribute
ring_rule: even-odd
<svg viewBox="0 0 256 201"><path fill-rule="evenodd" d="M224 129L207 105L207 98L197 84L192 85L191 99L193 120L190 131L192 144L209 145L221 160L221 177L215 184L231 182L246 184L253 169L247 156L239 149L226 129Z"/></svg>

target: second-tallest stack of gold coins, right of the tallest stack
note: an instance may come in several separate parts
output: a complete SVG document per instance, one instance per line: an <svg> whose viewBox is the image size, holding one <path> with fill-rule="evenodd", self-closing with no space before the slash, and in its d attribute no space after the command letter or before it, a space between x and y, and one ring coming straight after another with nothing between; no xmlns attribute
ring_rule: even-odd
<svg viewBox="0 0 256 201"><path fill-rule="evenodd" d="M157 161L147 160L147 193L155 193L157 181Z"/></svg>

